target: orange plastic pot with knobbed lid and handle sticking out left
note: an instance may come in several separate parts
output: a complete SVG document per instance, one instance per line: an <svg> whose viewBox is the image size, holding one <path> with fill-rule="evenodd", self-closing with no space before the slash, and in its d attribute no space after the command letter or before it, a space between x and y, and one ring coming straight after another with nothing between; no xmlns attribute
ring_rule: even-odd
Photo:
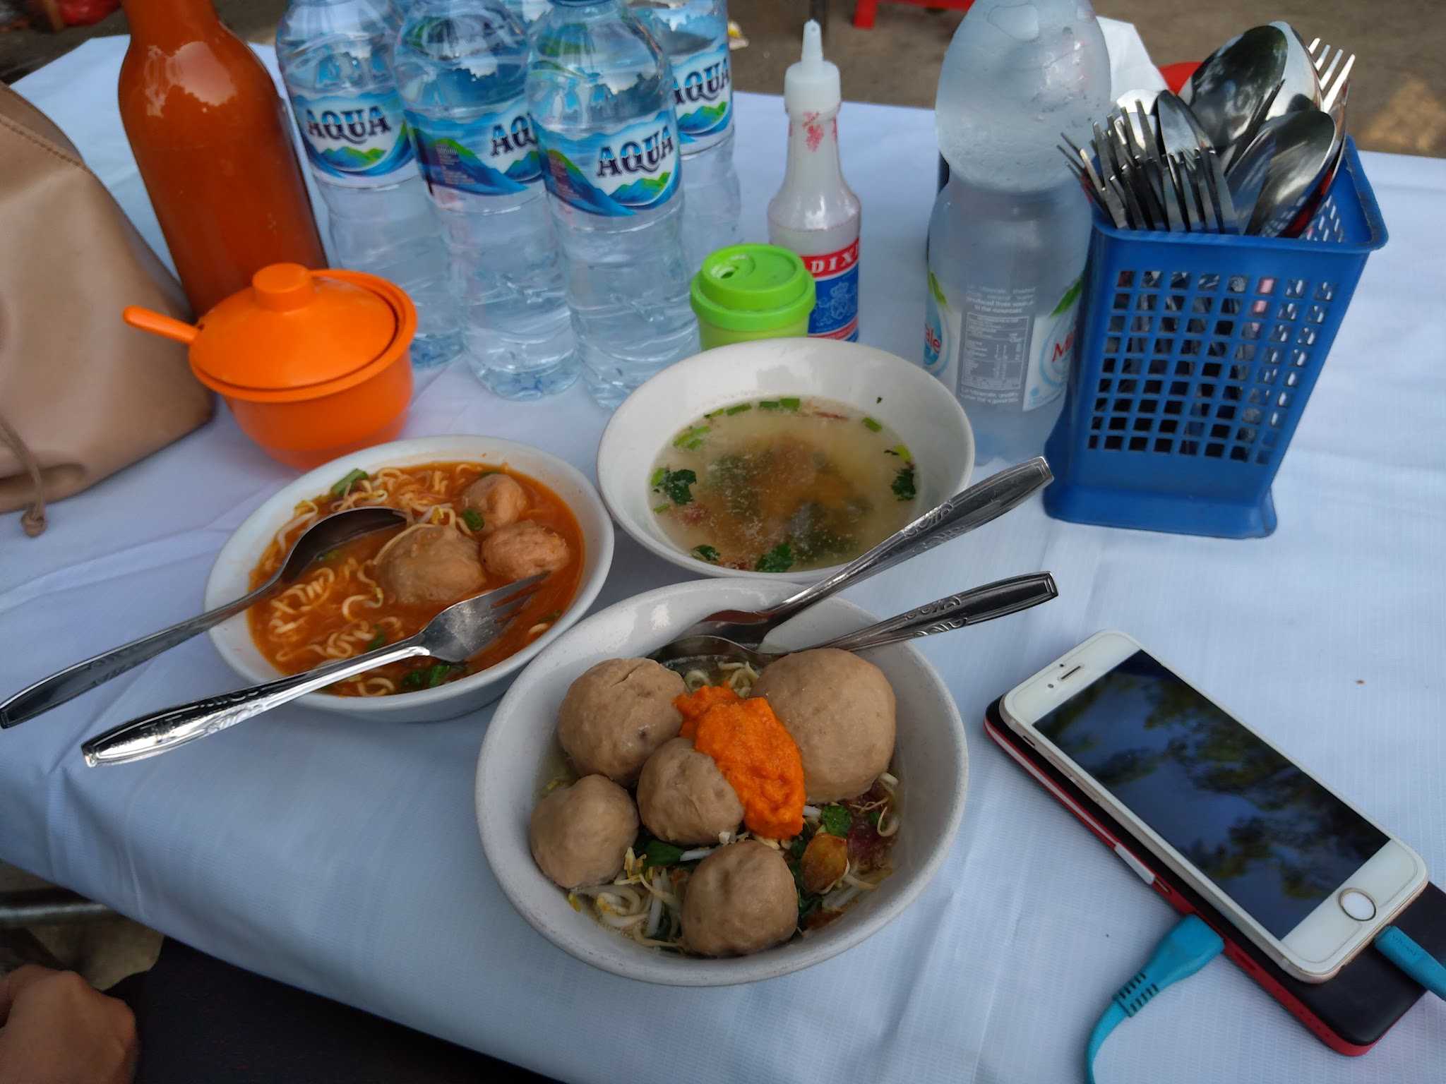
<svg viewBox="0 0 1446 1084"><path fill-rule="evenodd" d="M406 419L416 309L375 275L273 263L195 324L136 306L121 317L189 345L197 380L289 467L390 441Z"/></svg>

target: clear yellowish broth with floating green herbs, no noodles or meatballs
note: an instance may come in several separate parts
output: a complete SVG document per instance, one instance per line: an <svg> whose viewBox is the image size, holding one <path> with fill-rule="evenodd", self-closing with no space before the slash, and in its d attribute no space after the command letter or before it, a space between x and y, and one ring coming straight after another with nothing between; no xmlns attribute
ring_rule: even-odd
<svg viewBox="0 0 1446 1084"><path fill-rule="evenodd" d="M756 572L852 561L917 516L915 464L888 426L827 399L735 403L664 448L654 516L680 549Z"/></svg>

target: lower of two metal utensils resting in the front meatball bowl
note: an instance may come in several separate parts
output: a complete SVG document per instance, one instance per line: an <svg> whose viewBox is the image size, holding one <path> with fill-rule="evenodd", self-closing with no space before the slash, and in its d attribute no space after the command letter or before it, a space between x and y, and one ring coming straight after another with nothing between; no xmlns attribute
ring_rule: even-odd
<svg viewBox="0 0 1446 1084"><path fill-rule="evenodd" d="M951 594L933 603L925 603L915 610L902 613L898 617L878 621L857 632L836 636L814 648L837 648L846 652L862 652L870 648L882 648L901 640L912 640L918 636L933 636L934 633L951 632L966 624L992 621L995 617L1005 617L1031 606L1057 598L1058 587L1048 572L1031 572L1017 575L1009 580L999 580L993 584L976 587L972 591ZM798 648L797 650L813 650L814 648ZM762 669L775 659L794 652L762 652L755 648L745 648L723 636L690 636L684 635L667 643L648 658L661 662L675 671L685 671L700 661L709 662L746 662L756 669Z"/></svg>

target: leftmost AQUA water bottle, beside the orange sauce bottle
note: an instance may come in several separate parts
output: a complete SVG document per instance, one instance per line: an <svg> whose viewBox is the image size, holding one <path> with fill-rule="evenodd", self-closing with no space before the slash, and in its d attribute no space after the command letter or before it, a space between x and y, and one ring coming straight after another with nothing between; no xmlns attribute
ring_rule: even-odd
<svg viewBox="0 0 1446 1084"><path fill-rule="evenodd" d="M292 0L276 61L330 211L331 257L390 279L416 304L412 363L461 351L447 253L392 78L395 13L373 0Z"/></svg>

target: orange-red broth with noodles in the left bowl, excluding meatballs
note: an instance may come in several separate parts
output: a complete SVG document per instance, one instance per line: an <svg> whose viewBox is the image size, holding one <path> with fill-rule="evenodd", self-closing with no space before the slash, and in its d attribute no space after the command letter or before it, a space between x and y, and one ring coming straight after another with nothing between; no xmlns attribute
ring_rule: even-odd
<svg viewBox="0 0 1446 1084"><path fill-rule="evenodd" d="M260 585L282 565L292 543L317 519L344 509L393 507L403 512L411 525L435 523L458 530L467 539L480 539L482 517L463 507L461 493L483 474L493 473L506 474L526 493L522 520L541 523L567 542L567 564L544 580L503 635L466 665L448 666L429 658L406 659L328 685L322 692L379 697L431 688L476 674L541 636L573 603L581 582L584 554L583 532L573 512L535 478L483 463L385 467L370 476L353 471L340 478L331 491L296 504L294 519L276 532L252 569L252 587ZM331 659L362 655L421 632L432 617L460 601L406 606L386 595L377 578L377 554L405 529L377 530L344 542L324 554L285 591L253 606L247 621L252 639L266 661L282 674L299 674ZM490 591L505 582L489 575L480 590Z"/></svg>

